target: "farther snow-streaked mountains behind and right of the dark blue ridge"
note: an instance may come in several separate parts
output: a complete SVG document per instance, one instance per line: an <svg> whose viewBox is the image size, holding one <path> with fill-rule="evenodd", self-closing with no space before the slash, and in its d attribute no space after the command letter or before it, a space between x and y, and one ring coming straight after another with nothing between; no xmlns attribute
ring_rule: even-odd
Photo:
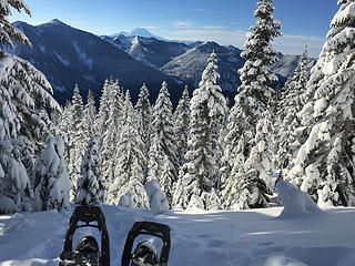
<svg viewBox="0 0 355 266"><path fill-rule="evenodd" d="M223 47L216 42L194 42L187 45L165 42L155 38L122 34L114 38L103 35L101 39L112 43L142 63L168 75L176 76L178 80L191 88L199 85L202 72L207 65L207 58L214 50L217 54L220 85L223 91L232 95L240 85L237 70L243 66L245 61L241 58L242 50L233 45ZM277 57L278 62L272 69L278 75L281 85L283 85L287 78L293 74L300 57L282 53L278 53ZM308 60L310 70L314 63L314 59Z"/></svg>

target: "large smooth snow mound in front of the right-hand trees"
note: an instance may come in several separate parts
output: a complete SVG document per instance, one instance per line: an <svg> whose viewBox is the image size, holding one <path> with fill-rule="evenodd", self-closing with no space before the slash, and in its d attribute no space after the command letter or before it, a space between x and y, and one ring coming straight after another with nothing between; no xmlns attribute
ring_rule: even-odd
<svg viewBox="0 0 355 266"><path fill-rule="evenodd" d="M280 218L296 218L314 214L323 214L323 211L313 202L312 197L290 184L287 181L278 181L276 184L278 197L284 205Z"/></svg>

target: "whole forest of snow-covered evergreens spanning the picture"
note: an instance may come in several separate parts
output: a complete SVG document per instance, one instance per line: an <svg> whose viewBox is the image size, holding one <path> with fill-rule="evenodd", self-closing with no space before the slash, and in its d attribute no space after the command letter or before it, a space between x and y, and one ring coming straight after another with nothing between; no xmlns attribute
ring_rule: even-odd
<svg viewBox="0 0 355 266"><path fill-rule="evenodd" d="M258 1L232 106L214 51L173 110L166 82L154 103L142 84L133 104L110 76L99 103L90 92L84 103L75 86L60 106L41 72L0 49L0 213L70 203L149 208L144 184L153 180L171 209L267 207L280 180L318 206L355 205L355 2L338 3L311 76L305 49L284 88L273 89L282 25L273 1ZM1 1L0 43L30 45L9 22L10 7L30 14L21 0Z"/></svg>

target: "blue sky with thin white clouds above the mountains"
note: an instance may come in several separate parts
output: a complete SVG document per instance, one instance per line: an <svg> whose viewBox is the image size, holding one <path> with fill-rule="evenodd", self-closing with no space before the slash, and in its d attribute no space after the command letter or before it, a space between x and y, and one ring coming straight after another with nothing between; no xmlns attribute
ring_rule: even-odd
<svg viewBox="0 0 355 266"><path fill-rule="evenodd" d="M24 0L30 18L12 12L11 22L30 24L59 19L94 34L145 28L171 40L215 41L243 48L245 33L255 24L256 0ZM305 45L317 58L329 22L338 10L337 0L274 0L274 17L283 37L274 47L284 54L301 54Z"/></svg>

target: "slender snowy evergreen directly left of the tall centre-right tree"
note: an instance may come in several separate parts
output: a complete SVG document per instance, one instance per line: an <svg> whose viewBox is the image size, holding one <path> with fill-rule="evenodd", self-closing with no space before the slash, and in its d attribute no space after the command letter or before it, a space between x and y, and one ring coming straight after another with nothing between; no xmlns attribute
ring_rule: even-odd
<svg viewBox="0 0 355 266"><path fill-rule="evenodd" d="M174 134L176 139L176 151L179 166L185 163L185 154L187 152L187 136L190 124L190 96L187 85L179 100L179 104L173 115Z"/></svg>

